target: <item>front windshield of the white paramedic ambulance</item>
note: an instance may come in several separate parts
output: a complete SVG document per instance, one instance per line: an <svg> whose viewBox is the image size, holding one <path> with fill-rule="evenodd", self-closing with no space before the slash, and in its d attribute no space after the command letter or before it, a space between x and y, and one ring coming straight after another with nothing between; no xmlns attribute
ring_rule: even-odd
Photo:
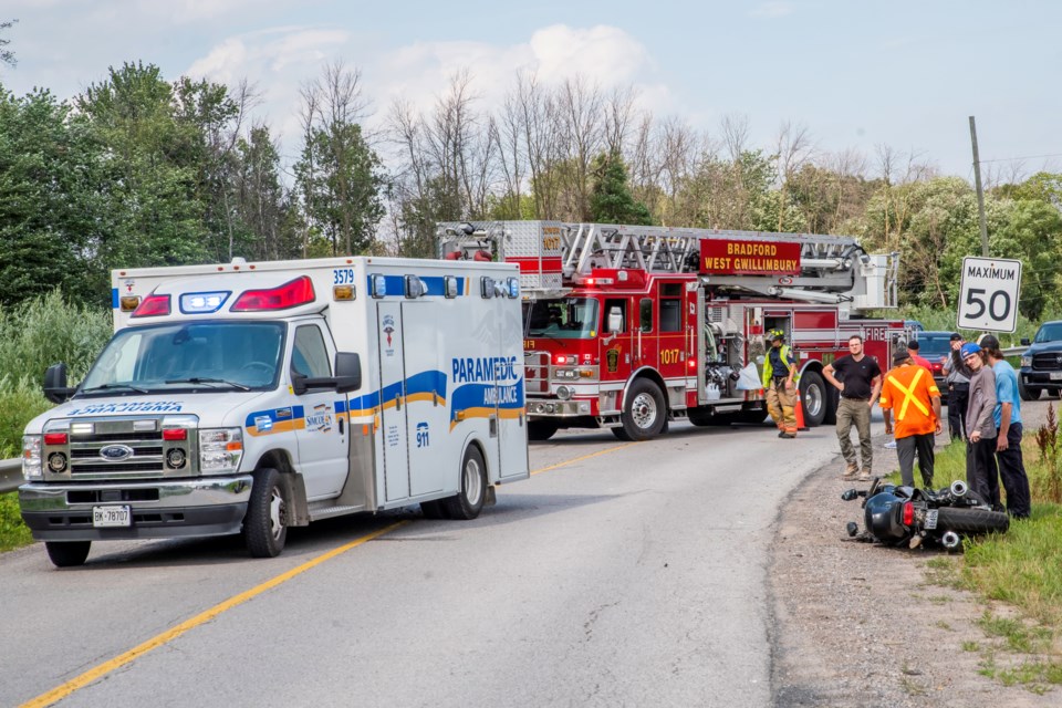
<svg viewBox="0 0 1062 708"><path fill-rule="evenodd" d="M275 386L284 325L278 322L181 322L118 331L81 393L173 391L207 385L249 391Z"/></svg>

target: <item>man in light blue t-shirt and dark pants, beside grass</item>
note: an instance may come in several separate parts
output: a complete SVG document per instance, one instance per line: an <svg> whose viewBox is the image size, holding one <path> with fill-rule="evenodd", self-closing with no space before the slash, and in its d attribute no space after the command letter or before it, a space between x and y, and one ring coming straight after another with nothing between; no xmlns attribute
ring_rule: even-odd
<svg viewBox="0 0 1062 708"><path fill-rule="evenodd" d="M1028 519L1032 512L1029 477L1021 459L1021 398L1018 396L1018 375L999 351L999 340L991 334L981 337L981 348L996 374L996 459L999 477L1007 490L1007 512L1014 519Z"/></svg>

